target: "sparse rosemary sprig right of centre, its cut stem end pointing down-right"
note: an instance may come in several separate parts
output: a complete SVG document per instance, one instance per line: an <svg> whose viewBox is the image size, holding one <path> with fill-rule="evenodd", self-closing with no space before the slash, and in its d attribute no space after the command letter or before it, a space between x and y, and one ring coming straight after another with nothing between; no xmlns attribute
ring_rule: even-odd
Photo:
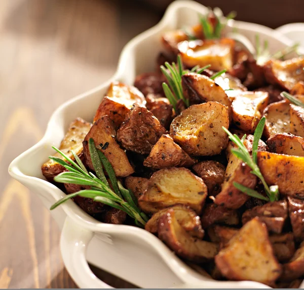
<svg viewBox="0 0 304 290"><path fill-rule="evenodd" d="M227 130L225 127L222 127L222 129L227 133L229 136L229 139L234 142L238 148L232 149L232 153L237 156L239 159L241 159L244 163L246 163L250 168L251 168L251 173L254 174L256 177L260 179L262 182L265 192L267 194L267 197L262 196L259 194L259 192L248 188L240 183L234 182L234 186L244 192L244 194L255 197L258 199L262 199L265 201L277 201L279 200L279 187L278 185L272 185L268 186L266 183L264 177L262 176L258 166L257 166L257 149L258 149L258 141L260 140L263 130L264 130L264 125L265 125L265 117L262 117L259 121L259 123L256 126L256 129L254 131L254 138L253 138L253 144L252 144L252 156L250 155L249 151L247 150L246 146L243 144L245 141L245 138L243 137L242 140L236 135L236 134L231 134L229 130Z"/></svg>

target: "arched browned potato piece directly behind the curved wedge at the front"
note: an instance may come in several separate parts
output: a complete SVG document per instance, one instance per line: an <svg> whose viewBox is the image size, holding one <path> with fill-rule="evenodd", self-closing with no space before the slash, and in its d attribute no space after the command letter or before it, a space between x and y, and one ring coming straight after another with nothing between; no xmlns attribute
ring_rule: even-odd
<svg viewBox="0 0 304 290"><path fill-rule="evenodd" d="M189 235L200 239L204 237L205 232L202 229L200 217L194 210L184 205L174 205L169 208L161 209L147 221L144 229L153 234L157 233L160 217L170 208L174 210L177 222Z"/></svg>

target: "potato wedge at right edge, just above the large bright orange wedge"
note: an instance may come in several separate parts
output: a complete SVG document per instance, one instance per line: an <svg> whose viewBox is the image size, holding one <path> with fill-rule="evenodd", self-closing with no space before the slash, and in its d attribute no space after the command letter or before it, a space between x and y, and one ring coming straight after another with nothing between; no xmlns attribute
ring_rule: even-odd
<svg viewBox="0 0 304 290"><path fill-rule="evenodd" d="M304 157L304 138L292 134L276 134L267 140L271 152Z"/></svg>

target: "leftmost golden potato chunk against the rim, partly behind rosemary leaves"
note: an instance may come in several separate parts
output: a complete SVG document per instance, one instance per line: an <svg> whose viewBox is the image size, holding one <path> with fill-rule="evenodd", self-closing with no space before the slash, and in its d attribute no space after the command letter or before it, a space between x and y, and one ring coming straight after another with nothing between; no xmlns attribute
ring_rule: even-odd
<svg viewBox="0 0 304 290"><path fill-rule="evenodd" d="M83 159L83 145L86 135L90 131L92 124L86 122L82 118L77 118L71 122L68 127L68 130L61 141L59 149L65 153L71 159L74 159L71 150L73 150L81 159ZM61 154L58 152L54 153L53 156L64 159ZM42 174L45 178L53 182L54 177L59 173L66 171L66 169L61 166L59 163L49 160L41 167Z"/></svg>

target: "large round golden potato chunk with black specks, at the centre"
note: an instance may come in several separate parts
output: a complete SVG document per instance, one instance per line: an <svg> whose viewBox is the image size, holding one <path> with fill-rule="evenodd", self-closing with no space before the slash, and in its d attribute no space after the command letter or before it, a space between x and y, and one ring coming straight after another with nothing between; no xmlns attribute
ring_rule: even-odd
<svg viewBox="0 0 304 290"><path fill-rule="evenodd" d="M171 123L170 135L189 155L216 155L228 142L222 126L229 127L227 107L208 102L192 105L177 116Z"/></svg>

